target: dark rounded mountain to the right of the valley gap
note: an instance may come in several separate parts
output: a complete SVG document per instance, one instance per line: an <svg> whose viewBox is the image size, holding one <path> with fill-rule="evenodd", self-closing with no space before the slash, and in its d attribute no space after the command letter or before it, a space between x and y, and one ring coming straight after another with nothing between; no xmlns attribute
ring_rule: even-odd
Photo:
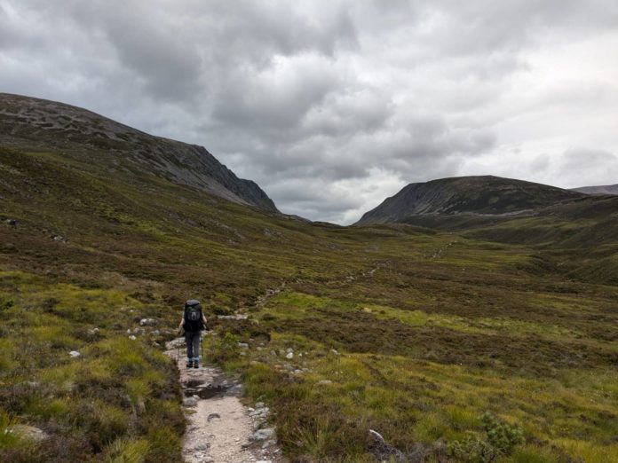
<svg viewBox="0 0 618 463"><path fill-rule="evenodd" d="M450 177L408 184L365 213L357 224L404 222L409 216L419 215L517 214L584 196L581 192L503 177Z"/></svg>

